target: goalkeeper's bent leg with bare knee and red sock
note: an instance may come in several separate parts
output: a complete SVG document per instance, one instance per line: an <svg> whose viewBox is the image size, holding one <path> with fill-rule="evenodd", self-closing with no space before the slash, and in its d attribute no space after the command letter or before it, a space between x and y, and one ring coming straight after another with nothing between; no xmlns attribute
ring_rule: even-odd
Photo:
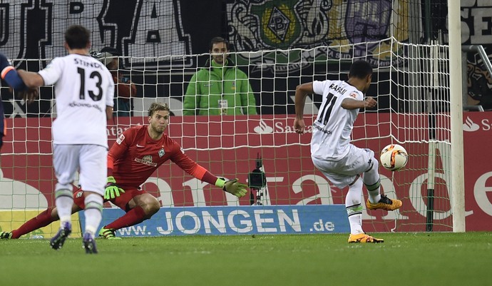
<svg viewBox="0 0 492 286"><path fill-rule="evenodd" d="M133 195L133 198L129 198ZM99 236L104 238L114 238L115 230L127 228L148 220L160 208L160 203L153 195L139 190L125 190L125 193L114 200L115 205L126 211L121 218L114 220L112 223L105 225L99 231Z"/></svg>

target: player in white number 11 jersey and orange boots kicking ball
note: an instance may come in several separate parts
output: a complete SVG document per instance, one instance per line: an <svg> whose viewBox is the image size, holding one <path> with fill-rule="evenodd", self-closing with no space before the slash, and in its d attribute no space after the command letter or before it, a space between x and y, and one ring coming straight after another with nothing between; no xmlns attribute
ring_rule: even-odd
<svg viewBox="0 0 492 286"><path fill-rule="evenodd" d="M374 98L364 94L371 85L372 68L367 61L355 61L348 81L313 81L296 88L294 130L304 133L304 102L311 93L323 95L319 113L313 123L311 139L312 162L337 188L349 186L345 208L349 215L349 242L384 242L362 230L362 185L366 185L369 210L396 210L401 200L390 200L379 193L379 163L374 152L350 143L360 108L376 106ZM361 175L362 174L362 175Z"/></svg>

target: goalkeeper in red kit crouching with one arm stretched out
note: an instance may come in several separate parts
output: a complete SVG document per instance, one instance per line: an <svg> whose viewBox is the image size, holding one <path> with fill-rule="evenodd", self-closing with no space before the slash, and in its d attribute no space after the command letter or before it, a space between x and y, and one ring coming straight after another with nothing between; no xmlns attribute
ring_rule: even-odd
<svg viewBox="0 0 492 286"><path fill-rule="evenodd" d="M153 195L140 190L150 175L167 160L176 163L186 173L207 183L222 188L227 193L241 198L247 185L236 180L225 181L212 175L183 153L181 146L164 133L169 123L167 104L152 103L148 111L148 126L133 126L125 130L113 143L108 153L108 183L105 200L125 210L125 215L104 226L99 236L114 239L115 231L143 222L157 213L160 203ZM82 210L83 197L74 193L72 213ZM58 220L56 208L45 210L19 229L0 232L0 238L19 238L21 235L42 228Z"/></svg>

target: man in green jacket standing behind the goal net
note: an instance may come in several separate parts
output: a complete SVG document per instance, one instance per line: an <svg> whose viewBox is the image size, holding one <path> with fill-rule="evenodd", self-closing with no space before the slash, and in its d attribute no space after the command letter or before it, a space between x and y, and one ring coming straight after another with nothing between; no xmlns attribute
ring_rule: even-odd
<svg viewBox="0 0 492 286"><path fill-rule="evenodd" d="M195 73L186 89L183 115L257 114L256 101L246 73L227 58L228 44L215 37L204 68Z"/></svg>

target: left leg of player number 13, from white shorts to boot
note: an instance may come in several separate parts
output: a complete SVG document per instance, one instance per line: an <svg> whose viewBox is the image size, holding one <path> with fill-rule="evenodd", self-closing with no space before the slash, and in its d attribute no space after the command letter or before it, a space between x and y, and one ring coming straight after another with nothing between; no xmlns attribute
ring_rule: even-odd
<svg viewBox="0 0 492 286"><path fill-rule="evenodd" d="M78 168L80 145L53 145L53 167L55 169L55 205L60 218L60 229L50 240L51 248L58 250L72 232L71 210L73 206L73 178Z"/></svg>

